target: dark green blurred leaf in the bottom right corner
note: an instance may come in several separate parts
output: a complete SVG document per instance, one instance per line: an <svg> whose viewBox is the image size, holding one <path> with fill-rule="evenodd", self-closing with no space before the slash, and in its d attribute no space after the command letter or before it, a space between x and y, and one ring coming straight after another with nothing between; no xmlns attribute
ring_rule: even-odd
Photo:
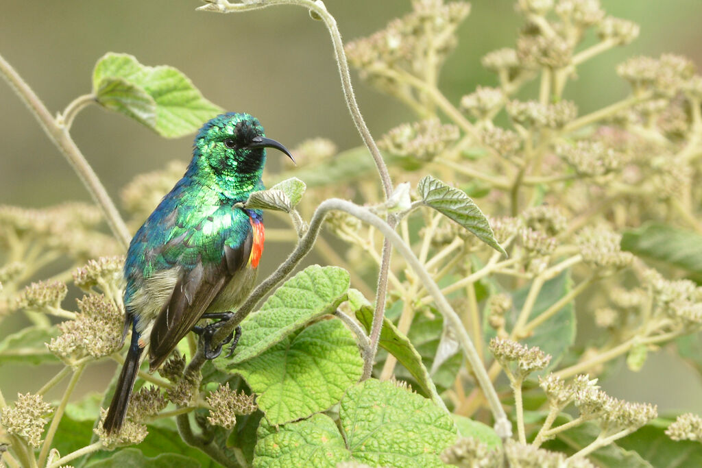
<svg viewBox="0 0 702 468"><path fill-rule="evenodd" d="M634 450L654 467L702 467L702 444L670 439L665 435L665 429L671 422L659 417L619 439L617 445Z"/></svg>

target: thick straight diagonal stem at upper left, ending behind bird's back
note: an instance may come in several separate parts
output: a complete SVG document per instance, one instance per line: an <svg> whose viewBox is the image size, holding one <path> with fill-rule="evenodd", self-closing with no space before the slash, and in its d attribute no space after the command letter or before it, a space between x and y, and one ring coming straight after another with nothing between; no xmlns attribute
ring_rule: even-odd
<svg viewBox="0 0 702 468"><path fill-rule="evenodd" d="M98 203L98 206L102 209L102 214L105 215L105 220L107 221L107 225L110 226L112 234L117 237L117 240L126 249L131 240L129 229L127 229L124 220L122 220L121 215L119 215L117 207L114 206L110 195L107 194L107 190L102 186L93 168L91 168L88 161L86 161L83 154L81 154L80 149L78 149L75 142L72 140L68 129L65 126L61 126L53 119L48 109L44 106L44 103L34 94L32 88L29 88L29 85L25 83L22 77L15 72L15 69L13 69L1 55L0 72L2 72L2 75L10 84L11 88L13 88L13 91L15 91L22 101L25 102L25 105L29 107L29 110L34 114L37 121L39 121L41 128L44 128L46 135L48 135L54 145L58 147L61 154L65 156L73 170L76 171L95 203Z"/></svg>

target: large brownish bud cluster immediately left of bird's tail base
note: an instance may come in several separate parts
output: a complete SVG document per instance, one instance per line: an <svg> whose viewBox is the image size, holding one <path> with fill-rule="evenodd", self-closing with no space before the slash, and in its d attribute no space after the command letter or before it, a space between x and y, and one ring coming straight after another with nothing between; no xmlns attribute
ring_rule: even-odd
<svg viewBox="0 0 702 468"><path fill-rule="evenodd" d="M78 301L74 320L58 324L61 335L52 338L48 349L64 359L93 356L95 359L119 350L124 316L104 295L86 295Z"/></svg>

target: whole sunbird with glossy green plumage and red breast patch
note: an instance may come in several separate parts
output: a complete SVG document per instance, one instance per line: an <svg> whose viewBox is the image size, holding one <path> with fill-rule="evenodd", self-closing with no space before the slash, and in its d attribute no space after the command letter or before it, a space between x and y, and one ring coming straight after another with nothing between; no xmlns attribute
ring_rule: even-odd
<svg viewBox="0 0 702 468"><path fill-rule="evenodd" d="M263 218L260 210L235 205L263 190L265 148L293 159L249 114L230 112L205 123L185 175L129 244L124 306L125 333L131 327L132 335L102 424L108 434L124 422L145 348L153 371L190 330L213 335L217 323L199 328L200 319L224 319L251 292L263 252ZM212 351L206 340L205 349L213 359L222 348Z"/></svg>

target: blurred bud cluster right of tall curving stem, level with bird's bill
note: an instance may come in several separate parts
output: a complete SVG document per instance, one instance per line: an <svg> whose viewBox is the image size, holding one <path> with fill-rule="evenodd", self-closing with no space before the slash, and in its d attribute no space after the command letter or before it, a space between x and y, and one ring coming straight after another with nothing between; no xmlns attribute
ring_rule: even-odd
<svg viewBox="0 0 702 468"><path fill-rule="evenodd" d="M460 135L457 126L428 119L393 128L380 139L378 146L399 156L431 161Z"/></svg>

